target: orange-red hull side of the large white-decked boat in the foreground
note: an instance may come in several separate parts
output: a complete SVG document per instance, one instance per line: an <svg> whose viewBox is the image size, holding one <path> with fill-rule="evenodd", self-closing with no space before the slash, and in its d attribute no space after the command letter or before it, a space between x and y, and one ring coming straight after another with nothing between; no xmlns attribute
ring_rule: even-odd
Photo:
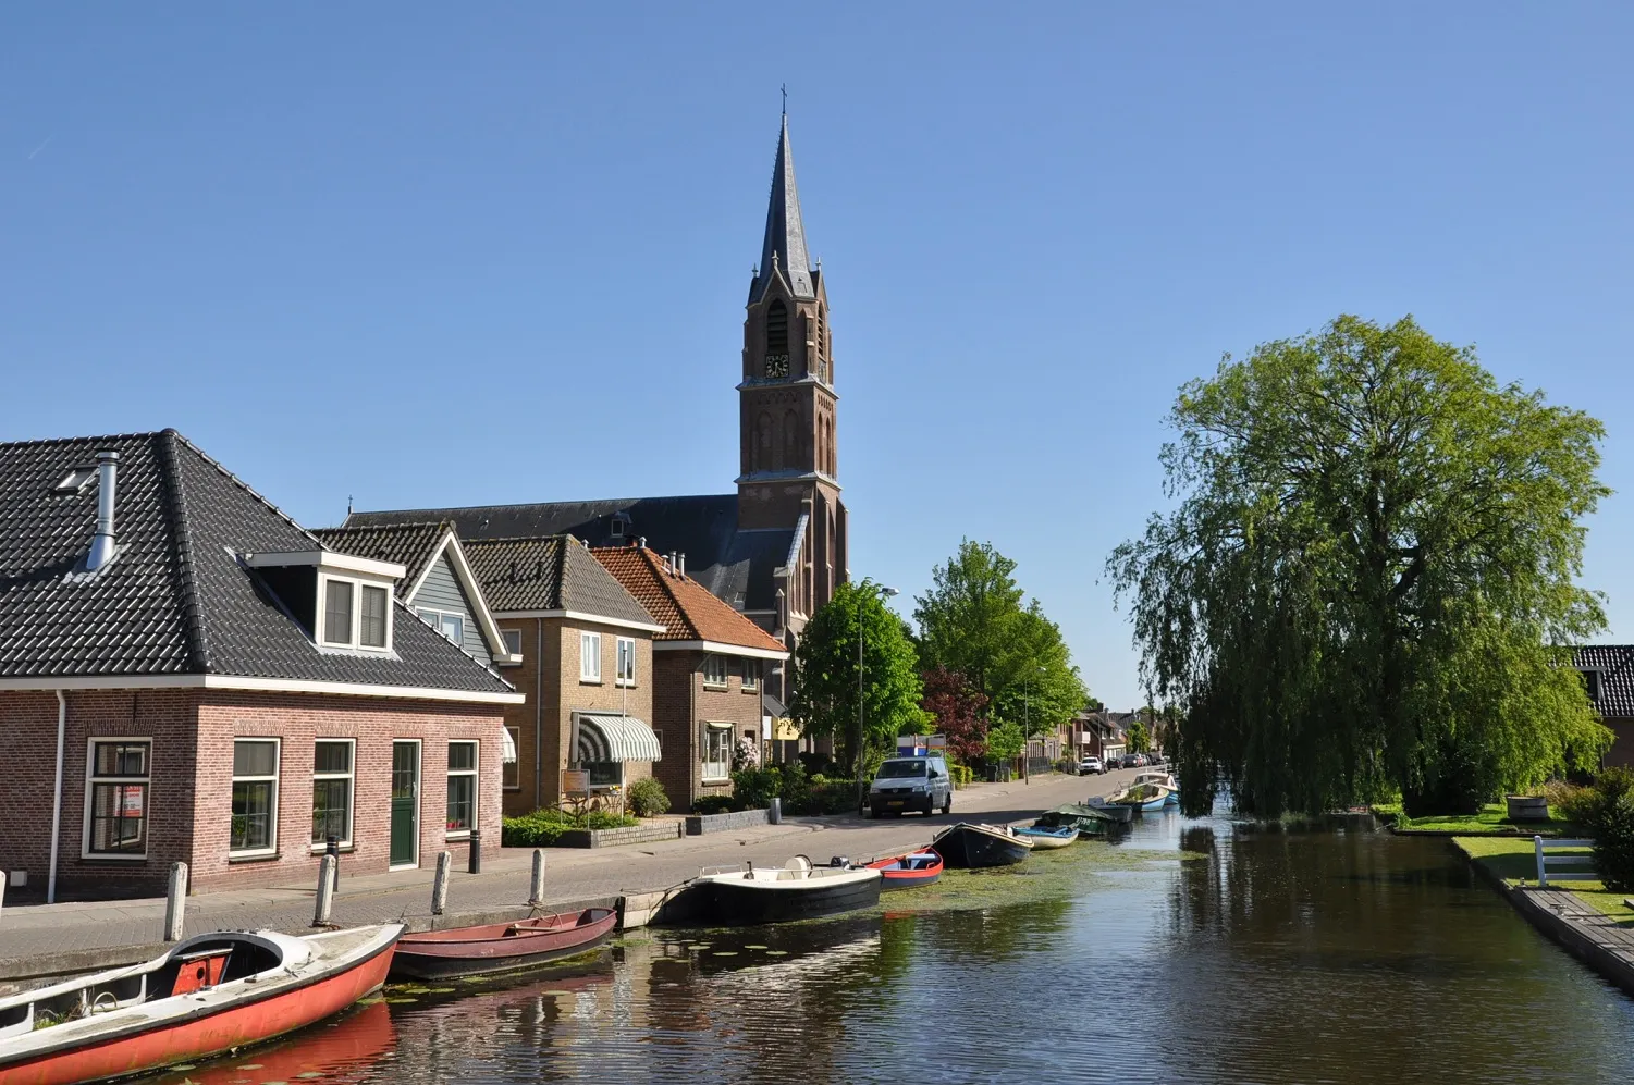
<svg viewBox="0 0 1634 1085"><path fill-rule="evenodd" d="M265 998L227 1003L199 1016L160 1021L152 1029L124 1033L101 1043L90 1041L3 1065L0 1085L106 1082L261 1044L333 1016L379 990L391 962L392 944L386 943L345 969L315 976L307 984L278 989Z"/></svg>

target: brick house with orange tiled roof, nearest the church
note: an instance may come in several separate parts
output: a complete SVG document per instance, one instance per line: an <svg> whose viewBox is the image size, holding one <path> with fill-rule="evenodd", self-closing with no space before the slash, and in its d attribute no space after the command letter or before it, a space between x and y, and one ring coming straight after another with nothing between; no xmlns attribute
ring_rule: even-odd
<svg viewBox="0 0 1634 1085"><path fill-rule="evenodd" d="M644 546L598 547L596 560L663 626L652 637L652 726L663 760L652 775L678 810L732 793L732 747L760 747L765 673L783 644Z"/></svg>

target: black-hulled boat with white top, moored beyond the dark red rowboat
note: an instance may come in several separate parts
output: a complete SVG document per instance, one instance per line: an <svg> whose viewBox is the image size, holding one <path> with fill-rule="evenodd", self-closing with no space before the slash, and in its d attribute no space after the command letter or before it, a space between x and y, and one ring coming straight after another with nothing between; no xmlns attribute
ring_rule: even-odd
<svg viewBox="0 0 1634 1085"><path fill-rule="evenodd" d="M879 904L884 877L866 866L833 860L812 866L797 855L784 866L704 869L694 884L709 889L709 913L716 923L781 923L837 915Z"/></svg>

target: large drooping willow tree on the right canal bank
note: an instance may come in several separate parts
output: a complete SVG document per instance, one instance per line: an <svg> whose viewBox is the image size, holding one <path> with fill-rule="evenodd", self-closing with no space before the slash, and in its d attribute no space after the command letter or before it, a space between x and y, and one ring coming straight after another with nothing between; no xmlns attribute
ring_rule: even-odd
<svg viewBox="0 0 1634 1085"><path fill-rule="evenodd" d="M1609 743L1565 645L1601 425L1410 317L1338 317L1186 384L1168 497L1108 560L1181 801L1464 807Z"/></svg>

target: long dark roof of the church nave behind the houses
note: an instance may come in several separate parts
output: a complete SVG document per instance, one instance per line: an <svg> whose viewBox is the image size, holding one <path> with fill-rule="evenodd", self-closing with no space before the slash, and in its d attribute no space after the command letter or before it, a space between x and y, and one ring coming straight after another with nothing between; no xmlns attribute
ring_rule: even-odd
<svg viewBox="0 0 1634 1085"><path fill-rule="evenodd" d="M614 516L627 523L613 534ZM627 497L598 502L475 505L351 513L346 526L451 521L471 554L474 539L538 539L572 534L590 546L624 546L645 538L659 554L685 554L686 575L739 609L770 611L778 605L771 570L788 560L791 529L737 529L737 495ZM489 598L493 609L511 609Z"/></svg>

